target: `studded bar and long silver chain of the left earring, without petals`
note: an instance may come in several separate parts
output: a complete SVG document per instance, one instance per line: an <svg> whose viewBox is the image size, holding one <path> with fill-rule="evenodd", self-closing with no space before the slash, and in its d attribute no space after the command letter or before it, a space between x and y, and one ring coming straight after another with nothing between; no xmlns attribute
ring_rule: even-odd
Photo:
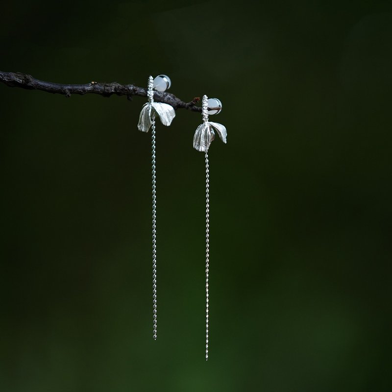
<svg viewBox="0 0 392 392"><path fill-rule="evenodd" d="M153 79L148 78L147 97L149 103L154 102ZM153 338L156 340L156 167L155 167L155 113L150 109L151 118L151 179L152 179L152 319Z"/></svg>

